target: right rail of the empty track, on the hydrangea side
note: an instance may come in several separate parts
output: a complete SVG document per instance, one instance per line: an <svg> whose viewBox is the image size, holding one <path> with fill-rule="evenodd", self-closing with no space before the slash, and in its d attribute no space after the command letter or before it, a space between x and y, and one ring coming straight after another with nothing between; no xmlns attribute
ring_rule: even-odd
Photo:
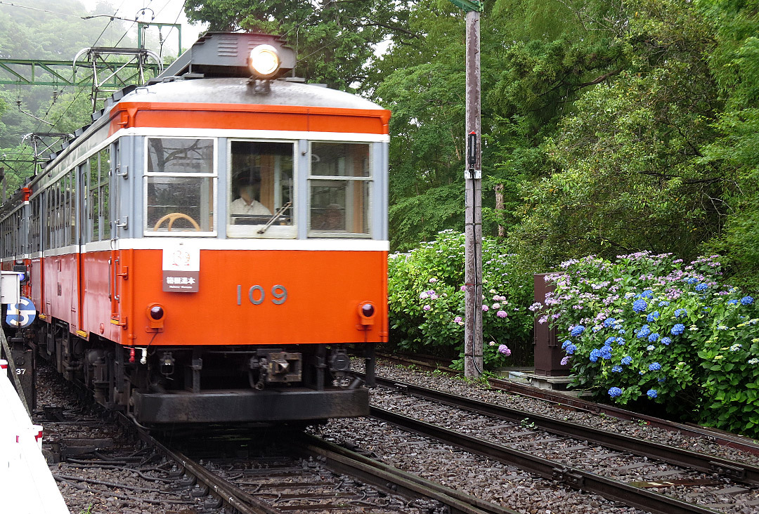
<svg viewBox="0 0 759 514"><path fill-rule="evenodd" d="M650 440L641 440L625 434L600 430L599 428L578 425L572 422L565 422L562 419L551 418L550 416L534 412L512 409L511 407L497 405L496 403L487 403L467 398L466 396L458 396L427 387L406 384L405 382L392 381L387 378L377 377L376 383L383 387L402 390L404 393L424 398L426 400L444 403L449 406L457 407L458 409L465 409L471 412L477 412L481 415L507 421L521 422L524 418L529 418L537 427L553 434L559 434L565 437L575 437L582 440L591 440L600 444L600 446L612 448L613 450L633 453L638 456L647 457L648 459L663 460L672 465L679 465L689 469L698 469L700 472L718 473L733 481L739 481L745 484L759 485L759 466L746 464L744 462L735 462L729 459L710 456L705 453L682 450L681 448L670 447L666 444L656 443Z"/></svg>

